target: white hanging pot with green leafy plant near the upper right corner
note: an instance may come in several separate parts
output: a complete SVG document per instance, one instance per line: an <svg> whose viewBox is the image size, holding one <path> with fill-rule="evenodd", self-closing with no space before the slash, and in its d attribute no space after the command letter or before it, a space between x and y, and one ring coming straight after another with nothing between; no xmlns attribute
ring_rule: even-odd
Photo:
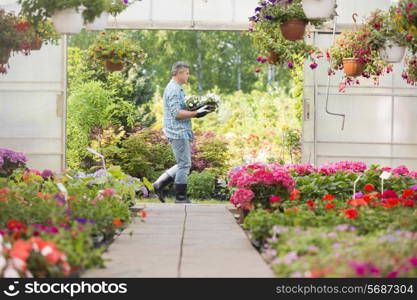
<svg viewBox="0 0 417 300"><path fill-rule="evenodd" d="M387 12L378 9L366 20L371 30L372 48L379 51L381 58L390 63L398 63L403 59L407 44L407 33L400 32L395 24L395 11L395 7Z"/></svg>

